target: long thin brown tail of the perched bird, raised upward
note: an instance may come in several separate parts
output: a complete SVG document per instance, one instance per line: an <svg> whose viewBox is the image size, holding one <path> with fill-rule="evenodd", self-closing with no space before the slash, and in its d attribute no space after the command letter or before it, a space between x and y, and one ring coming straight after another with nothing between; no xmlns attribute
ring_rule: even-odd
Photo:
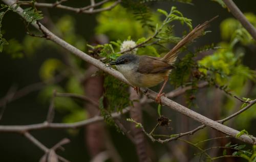
<svg viewBox="0 0 256 162"><path fill-rule="evenodd" d="M194 39L196 39L197 37L201 36L203 31L208 28L209 23L216 19L218 16L215 16L214 18L205 21L204 23L202 23L201 25L197 25L196 28L194 28L190 33L188 33L188 35L186 35L186 37L184 37L178 44L176 44L176 46L171 49L161 60L168 62L169 64L172 64L175 62L175 60L177 59L177 55L181 49L181 47L183 47L185 44L193 41Z"/></svg>

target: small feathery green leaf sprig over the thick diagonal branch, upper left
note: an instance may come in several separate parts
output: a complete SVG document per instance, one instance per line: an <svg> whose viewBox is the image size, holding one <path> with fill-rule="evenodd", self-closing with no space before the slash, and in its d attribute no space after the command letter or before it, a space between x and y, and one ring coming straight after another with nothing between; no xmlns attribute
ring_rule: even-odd
<svg viewBox="0 0 256 162"><path fill-rule="evenodd" d="M29 7L23 10L22 16L29 23L34 23L37 20L44 18L41 11L37 11L35 8Z"/></svg>

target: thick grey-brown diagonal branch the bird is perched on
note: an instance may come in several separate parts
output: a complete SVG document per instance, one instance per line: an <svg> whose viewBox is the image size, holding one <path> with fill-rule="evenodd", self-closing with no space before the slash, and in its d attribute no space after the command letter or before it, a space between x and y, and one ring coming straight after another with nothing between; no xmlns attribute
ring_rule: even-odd
<svg viewBox="0 0 256 162"><path fill-rule="evenodd" d="M11 0L2 0L4 3L8 4L8 5L12 5L12 7L14 8L16 5L13 5L13 1ZM18 7L17 8L17 13L20 14L22 16L22 12L23 9ZM80 57L81 59L83 59L84 61L87 61L90 64L95 65L96 67L98 67L99 69L101 69L102 71L109 73L111 75L113 75L114 77L118 78L119 80L121 80L122 82L131 85L124 77L123 75L116 71L113 70L107 66L105 66L105 64L103 64L102 62L100 62L99 60L96 60L92 57L90 57L89 55L87 55L86 53L82 52L81 50L75 48L74 46L72 46L71 44L65 42L64 40L60 39L59 37L57 37L56 35L54 35L52 32L50 32L47 28L45 28L44 25L40 24L40 23L33 23L32 24L36 29L38 29L39 31L42 31L44 33L47 34L47 38L49 40L52 40L53 42L59 44L60 46L62 46L63 48L71 51L72 53L74 53L74 55ZM147 97L154 99L157 97L157 93L150 90L150 89L144 89L144 91L147 90L147 92L145 92L144 94L147 95ZM239 133L238 130L232 129L228 126L225 126L221 123L218 123L214 120L211 120L209 118L206 118L205 116L198 114L190 109L188 109L187 107L184 107L166 97L161 97L161 101L164 105L169 106L171 109L188 116L189 118L192 118L200 123L203 123L211 128L214 128L216 130L219 130L225 134L228 134L229 136L232 137L236 137L236 135ZM251 137L247 136L247 135L242 135L238 138L241 141L244 141L246 143L250 143L250 144L254 144L254 140L251 139ZM256 140L256 138L254 138Z"/></svg>

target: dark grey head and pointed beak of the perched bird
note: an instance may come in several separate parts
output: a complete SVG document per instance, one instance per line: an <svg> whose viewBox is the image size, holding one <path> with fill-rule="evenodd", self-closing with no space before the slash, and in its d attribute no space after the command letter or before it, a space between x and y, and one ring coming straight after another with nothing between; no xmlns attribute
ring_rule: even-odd
<svg viewBox="0 0 256 162"><path fill-rule="evenodd" d="M116 59L116 61L112 61L110 65L128 65L135 64L138 61L139 57L133 54L124 54Z"/></svg>

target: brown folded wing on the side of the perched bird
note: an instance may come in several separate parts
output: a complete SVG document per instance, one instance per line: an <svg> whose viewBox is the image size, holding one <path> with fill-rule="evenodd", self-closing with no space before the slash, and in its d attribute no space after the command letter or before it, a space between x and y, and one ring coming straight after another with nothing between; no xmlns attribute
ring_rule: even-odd
<svg viewBox="0 0 256 162"><path fill-rule="evenodd" d="M141 56L137 72L142 74L154 74L159 72L166 72L167 70L175 68L175 66L170 65L160 59L161 58Z"/></svg>

